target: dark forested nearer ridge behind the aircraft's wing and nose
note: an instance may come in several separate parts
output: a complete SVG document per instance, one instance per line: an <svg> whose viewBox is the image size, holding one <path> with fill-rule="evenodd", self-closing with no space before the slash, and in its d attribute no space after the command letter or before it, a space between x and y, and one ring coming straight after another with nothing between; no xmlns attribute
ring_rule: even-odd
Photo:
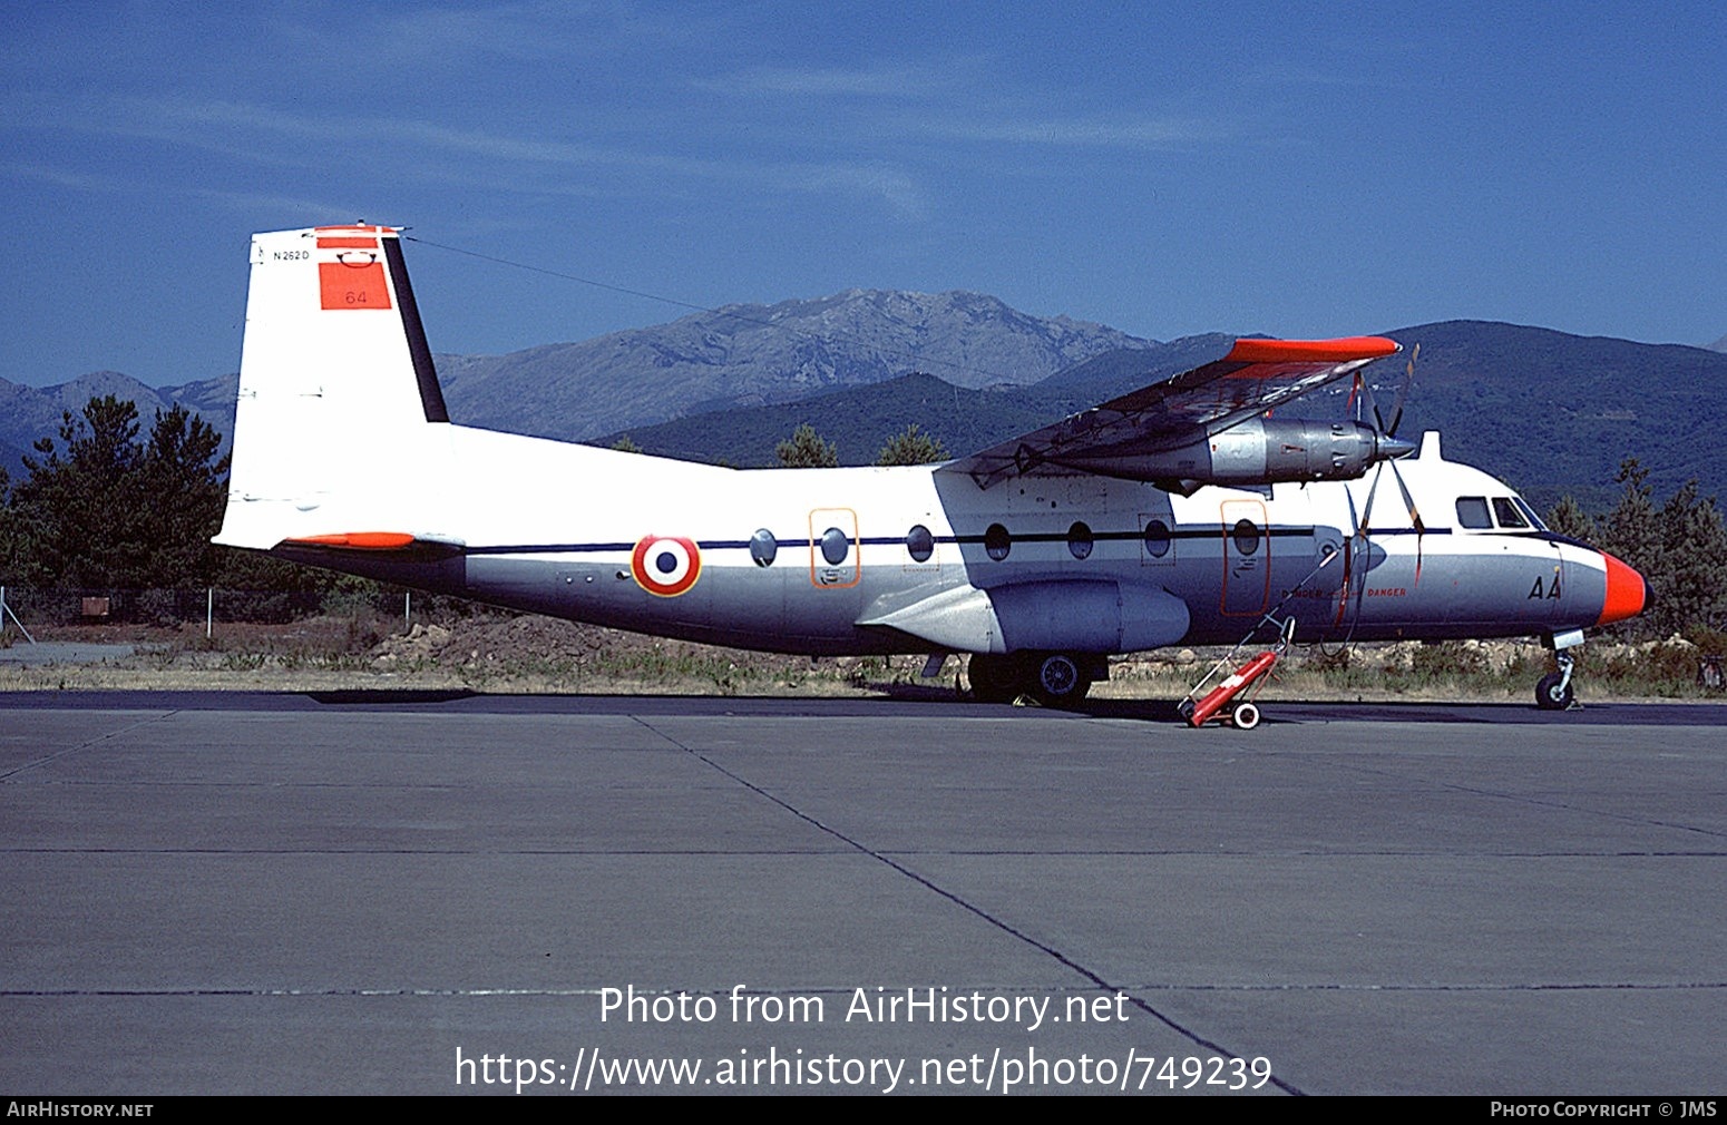
<svg viewBox="0 0 1727 1125"><path fill-rule="evenodd" d="M1404 345L1401 355L1368 368L1387 414L1421 345L1399 433L1439 430L1447 457L1509 481L1542 509L1566 493L1585 509L1611 507L1620 493L1613 476L1625 457L1649 469L1658 497L1691 478L1705 493L1727 483L1727 447L1717 437L1727 354L1492 321L1380 335ZM1105 352L1040 383L991 392L943 392L927 376L907 376L637 428L629 437L651 454L760 466L774 464L774 443L807 421L838 445L841 462L869 464L888 437L917 421L957 456L1216 359L1230 340L1188 336ZM1338 381L1283 412L1342 418L1349 383Z"/></svg>

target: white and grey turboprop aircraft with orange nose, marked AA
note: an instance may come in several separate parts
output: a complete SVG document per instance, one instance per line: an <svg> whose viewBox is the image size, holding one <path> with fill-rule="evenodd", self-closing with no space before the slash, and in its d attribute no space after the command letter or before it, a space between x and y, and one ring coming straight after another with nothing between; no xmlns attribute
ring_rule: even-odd
<svg viewBox="0 0 1727 1125"><path fill-rule="evenodd" d="M1568 650L1642 611L1641 575L1437 433L1271 416L1395 350L1238 340L958 461L725 469L452 424L395 229L257 235L216 542L748 649L969 652L981 699L1076 701L1110 654L1288 621L1534 635L1561 669L1537 701L1568 706Z"/></svg>

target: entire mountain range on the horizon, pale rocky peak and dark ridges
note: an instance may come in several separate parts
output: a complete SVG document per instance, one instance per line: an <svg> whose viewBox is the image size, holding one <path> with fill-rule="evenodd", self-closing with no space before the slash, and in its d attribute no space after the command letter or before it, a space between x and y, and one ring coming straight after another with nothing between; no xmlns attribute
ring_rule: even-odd
<svg viewBox="0 0 1727 1125"><path fill-rule="evenodd" d="M1570 492L1585 507L1616 495L1635 456L1665 495L1687 478L1727 481L1715 419L1727 354L1573 336L1490 321L1387 333L1406 354L1370 369L1389 409L1421 345L1402 435L1444 431L1447 456L1478 464L1539 506ZM610 443L729 464L774 464L774 445L812 423L841 461L876 459L917 423L952 456L1221 355L1221 333L1171 342L1017 312L983 293L848 290L817 300L727 305L656 328L508 355L437 355L451 418L465 424ZM55 433L62 411L112 393L152 412L181 402L225 435L238 376L152 388L114 371L31 388L0 380L0 466ZM1335 418L1347 388L1302 414ZM1288 412L1290 407L1285 407Z"/></svg>

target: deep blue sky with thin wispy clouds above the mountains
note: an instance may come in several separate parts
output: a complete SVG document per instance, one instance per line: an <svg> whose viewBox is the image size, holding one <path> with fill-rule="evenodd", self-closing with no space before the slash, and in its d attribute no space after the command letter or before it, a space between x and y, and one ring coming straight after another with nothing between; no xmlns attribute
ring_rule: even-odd
<svg viewBox="0 0 1727 1125"><path fill-rule="evenodd" d="M209 10L206 10L209 9ZM1167 340L1727 333L1727 5L16 3L0 378L238 366L254 229ZM686 309L408 247L432 347Z"/></svg>

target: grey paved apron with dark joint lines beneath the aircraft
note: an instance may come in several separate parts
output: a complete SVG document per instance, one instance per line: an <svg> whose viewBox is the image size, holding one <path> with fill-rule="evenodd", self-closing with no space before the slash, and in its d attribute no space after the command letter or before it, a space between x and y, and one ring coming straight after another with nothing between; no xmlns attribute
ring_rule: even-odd
<svg viewBox="0 0 1727 1125"><path fill-rule="evenodd" d="M0 695L0 1087L1724 1092L1727 707L1264 711Z"/></svg>

